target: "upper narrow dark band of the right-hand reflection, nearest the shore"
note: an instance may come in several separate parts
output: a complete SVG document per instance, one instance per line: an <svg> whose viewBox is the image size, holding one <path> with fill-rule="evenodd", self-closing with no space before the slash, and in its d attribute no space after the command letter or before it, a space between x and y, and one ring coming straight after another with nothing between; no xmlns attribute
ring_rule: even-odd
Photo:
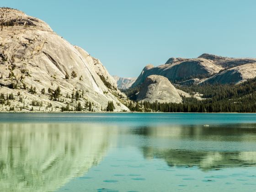
<svg viewBox="0 0 256 192"><path fill-rule="evenodd" d="M132 129L132 133L155 138L254 142L256 140L256 124L212 125L209 127L202 125L141 126Z"/></svg>

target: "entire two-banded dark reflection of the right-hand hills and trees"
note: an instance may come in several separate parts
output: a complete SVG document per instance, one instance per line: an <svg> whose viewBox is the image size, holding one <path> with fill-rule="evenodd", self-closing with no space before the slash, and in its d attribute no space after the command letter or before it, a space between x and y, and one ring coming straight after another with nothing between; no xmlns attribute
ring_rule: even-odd
<svg viewBox="0 0 256 192"><path fill-rule="evenodd" d="M133 129L133 133L149 138L148 142L151 141L150 138L165 138L170 141L167 143L169 145L161 146L159 140L156 142L156 146L145 143L141 147L145 158L163 159L169 166L197 166L204 171L224 167L256 166L256 151L246 151L244 148L240 150L243 145L249 148L251 143L254 146L256 142L255 125L233 125L235 127L232 128L229 126L142 127ZM187 144L191 145L179 145L180 139L182 139L182 144L187 141ZM197 146L198 144L205 144L201 142L202 140L208 143L212 141L215 146L210 146L209 150L198 150L202 148L202 146ZM244 144L244 142L247 143ZM229 144L232 143L233 151L229 150ZM181 146L181 148L177 146ZM203 146L203 148L207 147ZM219 150L220 148L221 150Z"/></svg>

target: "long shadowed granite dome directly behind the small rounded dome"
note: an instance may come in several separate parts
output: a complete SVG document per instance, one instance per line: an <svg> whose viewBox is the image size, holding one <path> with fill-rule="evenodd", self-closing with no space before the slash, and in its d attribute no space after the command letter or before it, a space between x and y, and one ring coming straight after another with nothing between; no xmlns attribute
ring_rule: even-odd
<svg viewBox="0 0 256 192"><path fill-rule="evenodd" d="M218 73L222 67L213 64L213 61L207 59L188 59L178 61L172 64L164 64L158 67L146 66L132 87L143 83L149 75L162 75L171 81L182 81L197 77L198 75L211 75Z"/></svg>

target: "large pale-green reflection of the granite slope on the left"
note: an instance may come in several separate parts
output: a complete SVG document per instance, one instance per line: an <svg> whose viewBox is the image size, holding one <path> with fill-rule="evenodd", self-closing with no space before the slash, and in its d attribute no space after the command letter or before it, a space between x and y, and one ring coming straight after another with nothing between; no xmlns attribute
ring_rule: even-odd
<svg viewBox="0 0 256 192"><path fill-rule="evenodd" d="M102 125L1 124L0 189L56 190L102 160L115 144L113 132Z"/></svg>

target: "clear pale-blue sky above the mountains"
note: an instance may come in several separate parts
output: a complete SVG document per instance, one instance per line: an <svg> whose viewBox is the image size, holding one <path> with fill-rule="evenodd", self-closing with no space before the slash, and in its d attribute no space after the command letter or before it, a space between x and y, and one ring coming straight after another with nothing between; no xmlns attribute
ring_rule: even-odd
<svg viewBox="0 0 256 192"><path fill-rule="evenodd" d="M46 21L111 75L202 53L256 58L255 0L1 0Z"/></svg>

